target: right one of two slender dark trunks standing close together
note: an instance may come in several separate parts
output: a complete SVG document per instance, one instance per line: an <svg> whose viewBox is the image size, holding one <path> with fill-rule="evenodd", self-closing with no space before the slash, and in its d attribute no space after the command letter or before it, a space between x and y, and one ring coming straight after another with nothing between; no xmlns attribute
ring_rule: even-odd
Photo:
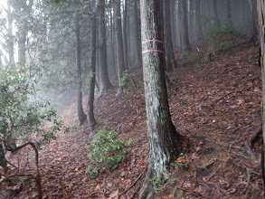
<svg viewBox="0 0 265 199"><path fill-rule="evenodd" d="M94 2L91 3L93 9ZM96 119L94 116L94 93L95 93L95 81L96 81L96 41L97 41L97 21L96 12L92 12L90 18L90 67L89 67L89 99L88 99L88 122L90 131L94 129Z"/></svg>

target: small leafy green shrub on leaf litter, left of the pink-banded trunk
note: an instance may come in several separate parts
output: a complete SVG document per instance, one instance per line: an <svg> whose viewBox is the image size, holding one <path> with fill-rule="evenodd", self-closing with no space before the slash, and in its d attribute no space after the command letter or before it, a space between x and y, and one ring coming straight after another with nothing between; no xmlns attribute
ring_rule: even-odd
<svg viewBox="0 0 265 199"><path fill-rule="evenodd" d="M90 159L97 166L90 166L87 173L95 177L99 170L117 168L118 164L128 156L128 147L131 143L132 140L128 143L122 142L114 130L108 128L99 130L88 147L91 151Z"/></svg>

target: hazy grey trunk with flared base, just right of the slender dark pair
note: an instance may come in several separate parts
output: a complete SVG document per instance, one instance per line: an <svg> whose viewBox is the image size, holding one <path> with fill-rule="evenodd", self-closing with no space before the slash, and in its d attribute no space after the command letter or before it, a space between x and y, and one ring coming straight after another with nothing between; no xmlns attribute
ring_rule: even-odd
<svg viewBox="0 0 265 199"><path fill-rule="evenodd" d="M105 0L100 0L99 6L99 96L105 95L111 87L107 62L107 43L105 27Z"/></svg>

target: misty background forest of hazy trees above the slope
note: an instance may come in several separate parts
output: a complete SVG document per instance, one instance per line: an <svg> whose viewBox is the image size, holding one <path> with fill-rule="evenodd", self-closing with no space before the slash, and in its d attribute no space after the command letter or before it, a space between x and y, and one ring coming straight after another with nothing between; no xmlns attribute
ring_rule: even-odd
<svg viewBox="0 0 265 199"><path fill-rule="evenodd" d="M43 95L47 96L49 90L47 98L55 104L60 101L58 109L83 101L82 95L86 97L90 90L90 2L6 0L1 7L0 63L24 62L30 75L40 79L38 86L46 89ZM141 65L142 42L138 0L120 1L116 5L120 9L118 17L112 1L100 0L96 4L95 93L100 96L106 94L110 81L118 85L124 70L133 71ZM249 26L250 30L252 26L253 35L257 35L253 4L255 1L249 0L165 1L167 71L176 65L174 49L182 49L181 57L195 51L190 44L202 40L214 22L222 25L231 19L234 26ZM120 89L119 92L122 93ZM85 118L83 113L80 115Z"/></svg>

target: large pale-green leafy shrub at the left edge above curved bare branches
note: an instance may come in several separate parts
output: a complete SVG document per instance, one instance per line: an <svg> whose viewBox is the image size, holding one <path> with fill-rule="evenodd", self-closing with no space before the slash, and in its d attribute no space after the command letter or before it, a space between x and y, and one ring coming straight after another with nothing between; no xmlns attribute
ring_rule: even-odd
<svg viewBox="0 0 265 199"><path fill-rule="evenodd" d="M37 97L36 83L23 66L0 69L0 138L7 144L17 138L35 141L33 136L43 137L38 143L47 142L55 139L54 133L62 128L62 120L50 102ZM52 121L51 128L44 128L47 121Z"/></svg>

